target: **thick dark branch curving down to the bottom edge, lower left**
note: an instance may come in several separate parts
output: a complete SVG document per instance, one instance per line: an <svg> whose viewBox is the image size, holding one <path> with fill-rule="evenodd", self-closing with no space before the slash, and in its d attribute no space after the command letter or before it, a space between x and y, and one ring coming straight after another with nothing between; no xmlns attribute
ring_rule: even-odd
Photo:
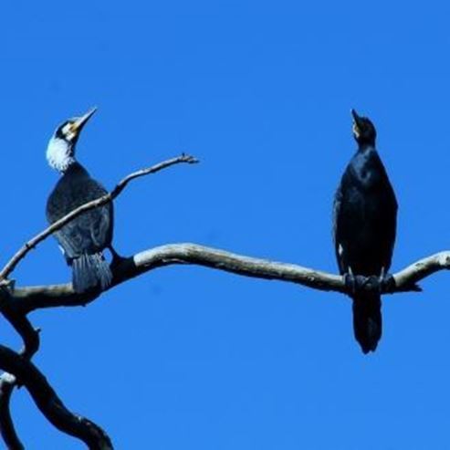
<svg viewBox="0 0 450 450"><path fill-rule="evenodd" d="M110 450L110 437L97 424L68 411L57 393L37 367L15 351L0 345L0 368L14 374L30 392L37 407L47 420L63 433L77 437L91 450ZM10 393L10 392L9 392ZM6 392L8 394L8 392ZM20 442L18 445L21 445ZM16 446L16 448L21 448Z"/></svg>

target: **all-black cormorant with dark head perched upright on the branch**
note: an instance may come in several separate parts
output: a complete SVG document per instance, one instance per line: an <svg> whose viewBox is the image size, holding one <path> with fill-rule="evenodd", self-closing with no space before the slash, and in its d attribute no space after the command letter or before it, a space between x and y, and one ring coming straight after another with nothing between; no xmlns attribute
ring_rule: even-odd
<svg viewBox="0 0 450 450"><path fill-rule="evenodd" d="M377 152L375 126L351 110L357 152L345 169L333 203L333 240L340 275L388 278L395 243L398 204ZM355 285L353 285L355 286ZM363 353L382 337L382 299L377 291L351 293L353 331Z"/></svg>

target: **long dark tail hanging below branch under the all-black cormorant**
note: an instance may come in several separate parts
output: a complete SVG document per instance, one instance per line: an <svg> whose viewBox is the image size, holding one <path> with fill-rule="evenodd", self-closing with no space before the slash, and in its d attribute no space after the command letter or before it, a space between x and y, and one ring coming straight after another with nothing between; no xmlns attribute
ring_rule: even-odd
<svg viewBox="0 0 450 450"><path fill-rule="evenodd" d="M366 293L353 298L353 331L363 353L375 351L382 338L382 298Z"/></svg>

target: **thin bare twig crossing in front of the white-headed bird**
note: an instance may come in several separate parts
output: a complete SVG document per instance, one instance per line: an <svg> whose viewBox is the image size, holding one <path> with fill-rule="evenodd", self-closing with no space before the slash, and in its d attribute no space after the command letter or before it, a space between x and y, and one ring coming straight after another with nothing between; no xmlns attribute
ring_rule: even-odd
<svg viewBox="0 0 450 450"><path fill-rule="evenodd" d="M57 222L48 226L44 231L32 237L29 241L26 242L26 244L24 244L24 246L22 246L16 252L16 255L14 255L6 263L5 267L3 267L2 271L0 272L0 280L5 280L7 277L9 277L13 272L13 270L16 268L17 264L26 256L26 254L32 248L36 248L36 246L44 239L46 239L49 235L55 233L55 231L58 231L64 225L68 224L68 222L73 220L75 217L78 217L78 215L81 215L86 211L89 211L90 209L97 208L98 206L107 204L110 201L114 200L123 191L123 189L125 189L127 184L131 182L131 180L134 180L144 175L148 175L150 173L160 172L162 171L162 169L166 169L167 167L170 167L174 164L179 164L181 162L193 164L195 162L198 162L198 160L196 160L193 156L189 156L183 153L182 155L177 156L176 158L160 162L159 164L153 165L148 169L142 169L140 171L131 173L130 175L127 175L123 180L121 180L120 183L118 183L109 194L105 194L102 197L99 197L96 200L92 200L87 204L82 204L77 209L74 209L68 215L65 215L64 217L60 218Z"/></svg>

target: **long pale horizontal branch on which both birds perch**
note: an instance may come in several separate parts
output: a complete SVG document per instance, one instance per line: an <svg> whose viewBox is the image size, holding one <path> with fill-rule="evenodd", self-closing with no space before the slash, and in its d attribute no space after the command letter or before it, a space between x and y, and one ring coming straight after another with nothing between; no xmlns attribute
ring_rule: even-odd
<svg viewBox="0 0 450 450"><path fill-rule="evenodd" d="M348 294L344 280L339 275L322 272L294 264L279 263L195 244L170 244L143 251L125 259L114 267L113 285L154 268L175 264L190 264L225 270L236 275L288 281L309 288ZM450 252L425 257L393 275L394 285L382 290L383 294L417 291L416 283L439 270L450 268ZM71 284L16 288L13 307L28 313L35 309L86 305L97 294L77 295Z"/></svg>

